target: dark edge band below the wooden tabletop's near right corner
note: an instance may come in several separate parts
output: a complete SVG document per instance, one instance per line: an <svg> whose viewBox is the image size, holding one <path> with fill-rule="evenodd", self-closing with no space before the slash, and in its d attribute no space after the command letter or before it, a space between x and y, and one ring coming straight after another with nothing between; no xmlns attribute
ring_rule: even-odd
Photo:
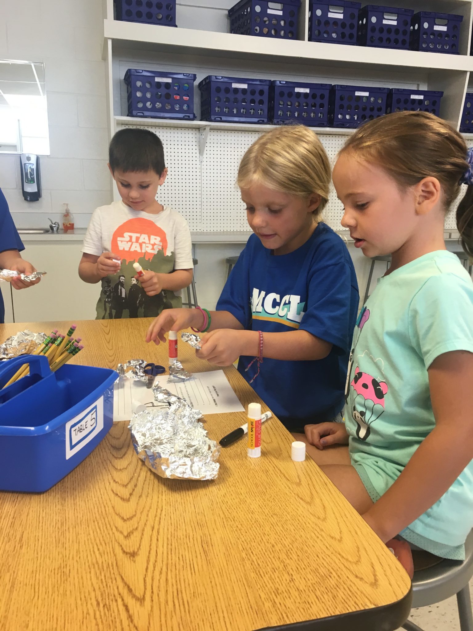
<svg viewBox="0 0 473 631"><path fill-rule="evenodd" d="M412 584L406 596L394 603L339 615L303 620L258 631L395 631L406 622L412 607Z"/></svg>

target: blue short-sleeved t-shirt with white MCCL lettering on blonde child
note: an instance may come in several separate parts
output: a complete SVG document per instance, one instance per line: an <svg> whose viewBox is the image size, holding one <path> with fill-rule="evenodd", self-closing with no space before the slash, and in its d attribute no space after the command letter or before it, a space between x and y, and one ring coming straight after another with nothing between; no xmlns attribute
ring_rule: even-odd
<svg viewBox="0 0 473 631"><path fill-rule="evenodd" d="M304 245L274 256L256 235L240 254L217 310L229 311L245 329L283 333L302 329L330 342L324 359L289 362L264 358L255 391L292 432L330 421L344 406L349 350L358 311L358 284L342 239L319 223ZM240 357L249 382L253 357Z"/></svg>

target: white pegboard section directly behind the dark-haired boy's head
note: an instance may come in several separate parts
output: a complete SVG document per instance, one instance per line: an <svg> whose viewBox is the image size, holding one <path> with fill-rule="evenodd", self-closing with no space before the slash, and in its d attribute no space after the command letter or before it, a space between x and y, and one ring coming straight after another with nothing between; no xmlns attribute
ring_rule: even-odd
<svg viewBox="0 0 473 631"><path fill-rule="evenodd" d="M123 127L138 127L122 124ZM171 206L185 217L192 232L201 232L201 165L199 162L199 130L180 127L139 125L161 139L168 177L160 187L158 201Z"/></svg>

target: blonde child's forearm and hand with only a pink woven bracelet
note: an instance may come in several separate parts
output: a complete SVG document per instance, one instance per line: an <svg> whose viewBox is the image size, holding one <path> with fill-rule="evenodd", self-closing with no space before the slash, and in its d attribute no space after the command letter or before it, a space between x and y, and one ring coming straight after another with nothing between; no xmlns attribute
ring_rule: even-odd
<svg viewBox="0 0 473 631"><path fill-rule="evenodd" d="M259 355L258 331L213 331L216 329L213 314L211 333L202 338L202 350L197 351L197 357L219 366L230 366L240 355ZM330 350L332 344L308 331L263 333L263 357L286 361L318 360L327 357Z"/></svg>

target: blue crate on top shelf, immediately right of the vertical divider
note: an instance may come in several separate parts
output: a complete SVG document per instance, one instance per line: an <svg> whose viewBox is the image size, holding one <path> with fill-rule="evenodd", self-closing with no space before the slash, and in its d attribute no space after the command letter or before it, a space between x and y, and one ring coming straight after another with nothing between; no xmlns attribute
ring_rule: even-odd
<svg viewBox="0 0 473 631"><path fill-rule="evenodd" d="M361 4L337 0L311 0L309 7L309 42L356 45L358 11Z"/></svg>

